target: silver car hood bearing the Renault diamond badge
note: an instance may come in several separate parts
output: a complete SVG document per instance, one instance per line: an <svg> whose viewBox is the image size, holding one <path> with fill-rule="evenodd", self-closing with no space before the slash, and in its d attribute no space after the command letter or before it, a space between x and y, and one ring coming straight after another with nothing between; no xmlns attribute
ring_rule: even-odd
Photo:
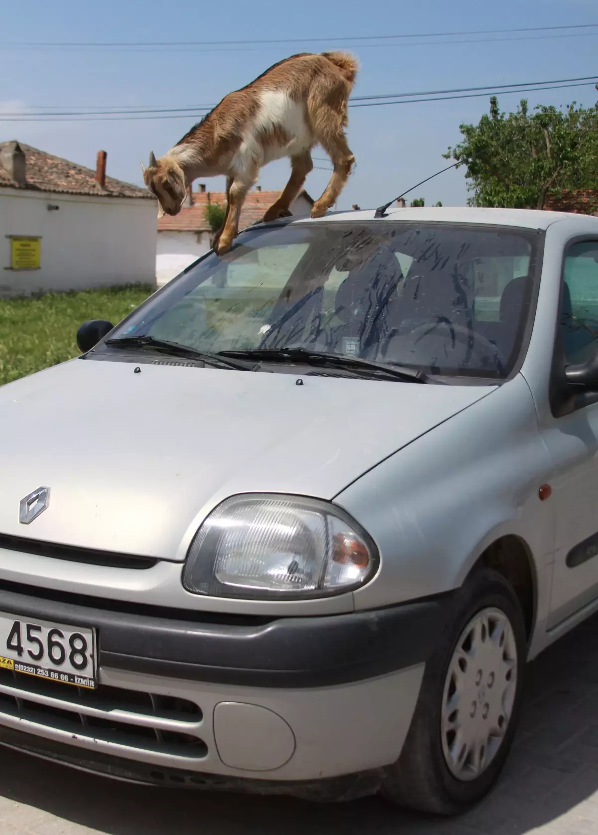
<svg viewBox="0 0 598 835"><path fill-rule="evenodd" d="M81 359L0 388L0 534L184 559L234 493L333 498L490 387ZM19 523L20 500L50 488Z"/></svg>

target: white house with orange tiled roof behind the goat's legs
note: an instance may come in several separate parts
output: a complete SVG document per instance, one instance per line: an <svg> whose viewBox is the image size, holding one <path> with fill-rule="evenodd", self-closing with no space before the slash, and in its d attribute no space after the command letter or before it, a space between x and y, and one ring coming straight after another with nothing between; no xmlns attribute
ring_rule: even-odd
<svg viewBox="0 0 598 835"><path fill-rule="evenodd" d="M257 223L264 217L264 212L279 198L279 191L262 191L258 185L245 198L239 230ZM206 191L200 184L199 190L188 190L187 199L178 215L164 215L158 220L158 241L156 245L156 280L158 286L166 284L174 276L192 264L199 256L210 250L212 231L205 219L205 209L209 203L225 205L224 191ZM302 191L290 206L295 217L309 215L314 200L306 191Z"/></svg>

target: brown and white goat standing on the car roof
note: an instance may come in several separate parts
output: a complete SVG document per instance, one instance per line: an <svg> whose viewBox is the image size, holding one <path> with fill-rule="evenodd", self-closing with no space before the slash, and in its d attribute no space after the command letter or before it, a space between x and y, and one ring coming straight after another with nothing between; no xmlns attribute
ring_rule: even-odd
<svg viewBox="0 0 598 835"><path fill-rule="evenodd" d="M143 180L158 198L158 217L178 215L187 187L197 177L225 175L224 224L214 238L219 255L228 252L239 232L245 195L262 165L288 156L291 175L264 220L289 215L289 205L312 170L311 149L320 144L334 172L312 217L321 217L343 189L354 155L344 128L347 101L357 74L355 59L342 52L293 55L230 93L163 157L149 155Z"/></svg>

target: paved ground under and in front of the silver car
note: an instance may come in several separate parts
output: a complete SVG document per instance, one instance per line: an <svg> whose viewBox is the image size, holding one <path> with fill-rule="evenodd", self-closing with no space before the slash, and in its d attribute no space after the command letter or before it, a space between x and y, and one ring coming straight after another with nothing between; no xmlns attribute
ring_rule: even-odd
<svg viewBox="0 0 598 835"><path fill-rule="evenodd" d="M528 668L525 711L499 787L442 821L377 798L319 806L126 786L0 749L2 835L596 835L598 617Z"/></svg>

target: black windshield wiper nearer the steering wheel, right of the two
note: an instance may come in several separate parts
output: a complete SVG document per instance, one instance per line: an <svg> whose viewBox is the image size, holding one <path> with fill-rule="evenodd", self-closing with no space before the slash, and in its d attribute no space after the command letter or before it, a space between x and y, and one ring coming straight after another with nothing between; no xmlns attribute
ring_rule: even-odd
<svg viewBox="0 0 598 835"><path fill-rule="evenodd" d="M410 367L392 367L382 362L371 362L359 357L345 357L343 354L327 354L323 351L308 351L306 348L249 348L246 351L222 351L225 357L246 357L264 362L304 362L306 365L346 368L348 371L370 374L386 374L407 382L430 382L422 371Z"/></svg>

